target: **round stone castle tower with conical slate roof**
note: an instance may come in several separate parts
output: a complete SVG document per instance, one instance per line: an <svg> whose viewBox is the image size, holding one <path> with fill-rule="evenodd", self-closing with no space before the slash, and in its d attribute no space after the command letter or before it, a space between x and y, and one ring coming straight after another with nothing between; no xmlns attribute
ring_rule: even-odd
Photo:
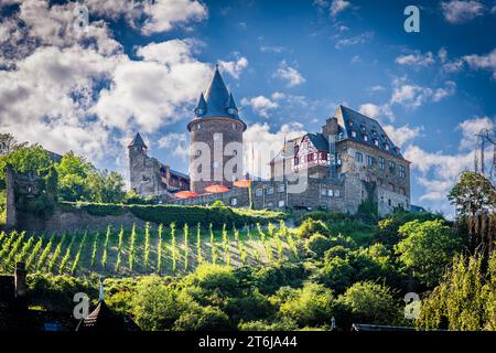
<svg viewBox="0 0 496 353"><path fill-rule="evenodd" d="M233 146L242 145L246 124L239 118L233 94L227 90L218 66L205 94L200 95L194 111L195 117L187 125L191 190L202 194L212 184L231 186L235 178L225 169L233 165L228 163L235 156L242 164L242 148L233 149ZM211 157L208 163L203 163L207 160L205 153ZM234 167L234 173L241 172L242 165Z"/></svg>

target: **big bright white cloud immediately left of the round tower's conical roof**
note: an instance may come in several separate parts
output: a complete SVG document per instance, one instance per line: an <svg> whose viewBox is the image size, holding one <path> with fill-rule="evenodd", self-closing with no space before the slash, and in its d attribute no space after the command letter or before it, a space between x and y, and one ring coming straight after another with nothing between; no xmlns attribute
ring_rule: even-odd
<svg viewBox="0 0 496 353"><path fill-rule="evenodd" d="M109 126L134 122L148 132L181 119L184 104L197 99L212 76L208 65L191 56L190 45L173 40L138 49L144 61L119 65L93 111Z"/></svg>

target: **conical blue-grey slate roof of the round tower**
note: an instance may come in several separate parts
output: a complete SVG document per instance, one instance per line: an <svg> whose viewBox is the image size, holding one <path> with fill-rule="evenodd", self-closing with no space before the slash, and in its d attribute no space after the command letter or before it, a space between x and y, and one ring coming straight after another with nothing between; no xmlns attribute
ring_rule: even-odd
<svg viewBox="0 0 496 353"><path fill-rule="evenodd" d="M234 114L228 111L229 108L235 110ZM227 90L218 66L205 94L200 95L195 108L195 119L198 118L229 118L241 121L233 94Z"/></svg>

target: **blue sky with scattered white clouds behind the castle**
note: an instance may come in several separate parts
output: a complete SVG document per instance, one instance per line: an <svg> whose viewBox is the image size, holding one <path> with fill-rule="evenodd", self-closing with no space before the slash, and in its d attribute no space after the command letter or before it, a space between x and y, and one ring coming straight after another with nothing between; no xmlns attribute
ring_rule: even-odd
<svg viewBox="0 0 496 353"><path fill-rule="evenodd" d="M496 117L495 1L6 0L0 131L126 173L126 143L187 171L185 126L219 63L247 141L320 131L337 104L379 119L412 164L412 203L445 193ZM420 9L420 33L403 9ZM489 153L486 153L489 154Z"/></svg>

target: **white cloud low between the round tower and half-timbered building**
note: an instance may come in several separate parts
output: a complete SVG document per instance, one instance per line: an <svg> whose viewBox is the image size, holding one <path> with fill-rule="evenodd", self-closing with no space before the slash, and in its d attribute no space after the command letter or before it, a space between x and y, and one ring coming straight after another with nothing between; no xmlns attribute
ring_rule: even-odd
<svg viewBox="0 0 496 353"><path fill-rule="evenodd" d="M304 133L306 131L300 122L284 124L276 132L270 131L267 122L250 125L244 133L246 169L252 175L268 178L270 175L268 163L281 150L284 138L289 140Z"/></svg>

